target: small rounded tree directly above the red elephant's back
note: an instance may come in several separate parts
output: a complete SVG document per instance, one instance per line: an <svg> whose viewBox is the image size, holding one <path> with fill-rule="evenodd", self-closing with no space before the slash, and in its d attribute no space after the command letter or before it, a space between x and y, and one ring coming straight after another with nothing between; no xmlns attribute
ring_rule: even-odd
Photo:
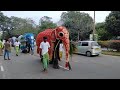
<svg viewBox="0 0 120 90"><path fill-rule="evenodd" d="M38 33L41 32L41 31L44 31L45 29L48 29L48 28L53 29L53 28L57 27L57 24L53 23L51 21L51 19L52 18L48 17L48 16L44 16L40 19L40 21L39 21L40 30L38 31Z"/></svg>

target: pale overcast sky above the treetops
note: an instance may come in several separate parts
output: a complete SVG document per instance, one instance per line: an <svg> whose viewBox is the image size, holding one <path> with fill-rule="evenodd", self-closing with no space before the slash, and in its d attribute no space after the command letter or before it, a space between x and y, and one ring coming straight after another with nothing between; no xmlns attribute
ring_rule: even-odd
<svg viewBox="0 0 120 90"><path fill-rule="evenodd" d="M53 22L58 22L60 20L60 16L62 12L66 11L2 11L4 15L11 17L21 17L21 18L32 18L36 24L39 23L39 20L43 16L52 17ZM81 11L88 13L92 18L94 17L93 11ZM106 16L108 16L110 11L96 11L96 22L104 22Z"/></svg>

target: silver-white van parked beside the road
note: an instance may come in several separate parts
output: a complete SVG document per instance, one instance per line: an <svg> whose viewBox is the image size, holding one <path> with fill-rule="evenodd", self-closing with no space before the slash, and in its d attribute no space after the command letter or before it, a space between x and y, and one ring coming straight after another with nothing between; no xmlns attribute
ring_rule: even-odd
<svg viewBox="0 0 120 90"><path fill-rule="evenodd" d="M96 41L79 41L77 43L78 54L84 54L88 57L101 54L101 46Z"/></svg>

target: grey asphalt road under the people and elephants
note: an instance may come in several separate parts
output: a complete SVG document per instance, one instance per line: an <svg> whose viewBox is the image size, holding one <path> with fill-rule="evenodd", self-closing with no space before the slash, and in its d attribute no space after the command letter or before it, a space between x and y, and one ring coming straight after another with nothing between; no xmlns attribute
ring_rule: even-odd
<svg viewBox="0 0 120 90"><path fill-rule="evenodd" d="M59 62L64 67L65 57ZM0 56L0 79L120 79L120 57L100 55L86 57L73 55L70 60L72 70L53 69L49 65L48 73L42 73L42 64L37 54L11 53L11 60Z"/></svg>

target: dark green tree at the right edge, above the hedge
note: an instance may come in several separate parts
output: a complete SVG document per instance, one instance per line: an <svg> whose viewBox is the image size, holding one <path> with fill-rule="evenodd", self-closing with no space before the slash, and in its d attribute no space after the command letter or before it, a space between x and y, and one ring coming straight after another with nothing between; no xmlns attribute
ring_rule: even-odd
<svg viewBox="0 0 120 90"><path fill-rule="evenodd" d="M111 11L106 17L105 28L112 37L120 36L120 11Z"/></svg>

